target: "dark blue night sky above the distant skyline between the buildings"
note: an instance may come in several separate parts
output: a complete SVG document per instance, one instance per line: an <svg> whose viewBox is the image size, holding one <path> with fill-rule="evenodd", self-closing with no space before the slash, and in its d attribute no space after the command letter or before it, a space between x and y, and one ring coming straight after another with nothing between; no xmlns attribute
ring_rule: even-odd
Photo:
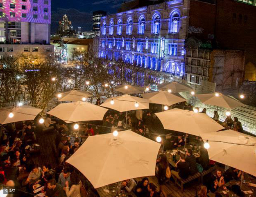
<svg viewBox="0 0 256 197"><path fill-rule="evenodd" d="M81 26L82 31L91 31L93 11L116 13L122 2L124 0L52 0L51 34L56 33L64 14L71 20L74 29Z"/></svg>

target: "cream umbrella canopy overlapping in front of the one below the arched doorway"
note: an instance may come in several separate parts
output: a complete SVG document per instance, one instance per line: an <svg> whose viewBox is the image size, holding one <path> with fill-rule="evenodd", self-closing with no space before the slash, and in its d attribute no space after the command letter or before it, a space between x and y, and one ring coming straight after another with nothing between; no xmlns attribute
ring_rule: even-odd
<svg viewBox="0 0 256 197"><path fill-rule="evenodd" d="M156 103L161 105L174 105L176 103L186 101L180 94L169 93L165 91L151 92L142 95L143 98L147 98L150 103Z"/></svg>

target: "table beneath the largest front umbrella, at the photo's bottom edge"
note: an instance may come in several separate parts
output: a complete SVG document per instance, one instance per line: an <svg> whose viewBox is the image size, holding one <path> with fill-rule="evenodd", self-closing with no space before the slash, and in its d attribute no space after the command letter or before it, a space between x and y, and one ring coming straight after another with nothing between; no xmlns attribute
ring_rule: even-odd
<svg viewBox="0 0 256 197"><path fill-rule="evenodd" d="M121 190L121 183L122 181L118 182L117 184L109 184L101 188L97 188L97 193L100 195L100 197L116 197L117 194L118 197L128 197L128 195L136 197L133 192L127 193L126 190ZM118 193L116 190L118 190Z"/></svg>

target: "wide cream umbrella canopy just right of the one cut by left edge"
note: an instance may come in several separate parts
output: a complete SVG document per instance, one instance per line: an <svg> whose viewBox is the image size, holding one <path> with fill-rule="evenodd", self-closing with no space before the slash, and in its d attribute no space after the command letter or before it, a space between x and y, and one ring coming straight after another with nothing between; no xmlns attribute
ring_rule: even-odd
<svg viewBox="0 0 256 197"><path fill-rule="evenodd" d="M61 103L47 112L66 123L81 121L102 121L107 109L88 102Z"/></svg>

